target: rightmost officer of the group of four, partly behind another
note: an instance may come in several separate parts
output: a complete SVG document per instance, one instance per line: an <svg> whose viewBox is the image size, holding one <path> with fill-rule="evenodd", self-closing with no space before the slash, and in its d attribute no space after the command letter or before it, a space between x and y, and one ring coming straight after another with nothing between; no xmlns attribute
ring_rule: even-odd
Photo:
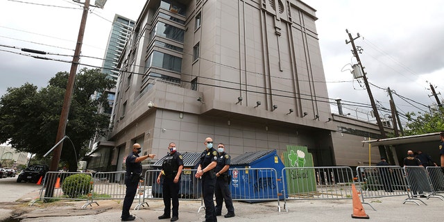
<svg viewBox="0 0 444 222"><path fill-rule="evenodd" d="M228 214L225 214L224 217L233 217L234 207L231 199L230 176L228 174L231 157L228 153L225 153L225 145L222 143L217 145L217 151L219 152L219 159L217 159L217 165L216 168L214 168L217 177L216 189L214 191L214 195L216 196L216 216L221 216L223 200L225 200L225 207L227 207Z"/></svg>

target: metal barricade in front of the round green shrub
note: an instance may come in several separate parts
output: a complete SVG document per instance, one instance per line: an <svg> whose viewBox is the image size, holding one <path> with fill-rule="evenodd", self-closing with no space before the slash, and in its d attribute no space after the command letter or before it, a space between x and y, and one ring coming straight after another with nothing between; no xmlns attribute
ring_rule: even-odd
<svg viewBox="0 0 444 222"><path fill-rule="evenodd" d="M74 178L75 177L75 178ZM96 203L93 200L94 182L91 173L81 172L46 172L40 198L34 200L31 206L38 200L86 200L82 208ZM96 203L99 205L99 203Z"/></svg>

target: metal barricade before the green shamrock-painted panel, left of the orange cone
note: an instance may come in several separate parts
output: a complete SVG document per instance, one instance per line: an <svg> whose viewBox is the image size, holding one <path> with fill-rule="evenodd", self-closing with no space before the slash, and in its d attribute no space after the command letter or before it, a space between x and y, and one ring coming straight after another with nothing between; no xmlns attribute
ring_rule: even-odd
<svg viewBox="0 0 444 222"><path fill-rule="evenodd" d="M350 167L285 167L284 209L292 199L351 199L353 171Z"/></svg>

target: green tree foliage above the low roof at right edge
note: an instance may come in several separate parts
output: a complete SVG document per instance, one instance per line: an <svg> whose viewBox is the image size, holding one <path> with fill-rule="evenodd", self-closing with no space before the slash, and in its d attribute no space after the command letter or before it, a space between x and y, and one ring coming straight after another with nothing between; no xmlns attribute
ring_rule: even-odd
<svg viewBox="0 0 444 222"><path fill-rule="evenodd" d="M444 108L437 107L429 112L407 113L408 123L404 130L405 135L420 135L436 133L444 130ZM415 118L416 117L416 118Z"/></svg>

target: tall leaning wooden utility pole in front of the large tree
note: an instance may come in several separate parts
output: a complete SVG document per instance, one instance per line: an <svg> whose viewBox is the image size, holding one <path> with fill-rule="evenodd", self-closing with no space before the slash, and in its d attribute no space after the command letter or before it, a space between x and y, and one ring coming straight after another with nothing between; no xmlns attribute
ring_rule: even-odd
<svg viewBox="0 0 444 222"><path fill-rule="evenodd" d="M71 62L71 69L69 70L68 76L68 84L67 91L65 92L65 101L62 106L62 113L60 114L60 121L58 123L58 130L56 136L56 144L60 142L65 137L65 130L67 127L69 108L71 107L72 94L74 92L74 82L76 80L76 71L78 67L78 61L80 60L80 52L83 44L83 35L85 33L86 19L88 17L89 11L89 1L85 0L85 4L83 6L83 15L82 20L80 22L80 28L78 31L77 44L76 49L74 51L74 57ZM78 2L78 1L76 1ZM49 171L57 171L58 163L60 162L60 155L62 154L62 146L63 142L54 149L53 158L51 160L51 166L49 166ZM55 177L56 175L54 175ZM54 192L54 185L52 182L55 182L55 178L46 178L46 191L44 196L52 197Z"/></svg>

